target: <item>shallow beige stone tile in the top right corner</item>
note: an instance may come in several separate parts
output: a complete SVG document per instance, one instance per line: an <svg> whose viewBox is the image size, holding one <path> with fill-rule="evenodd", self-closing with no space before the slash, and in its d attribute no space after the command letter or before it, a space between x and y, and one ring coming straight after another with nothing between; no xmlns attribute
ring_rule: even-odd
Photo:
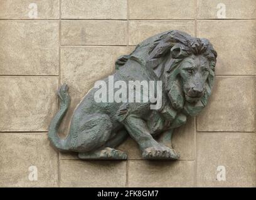
<svg viewBox="0 0 256 200"><path fill-rule="evenodd" d="M225 19L255 19L255 0L199 0L199 19L218 19L218 12L226 10ZM223 12L222 12L223 13Z"/></svg>

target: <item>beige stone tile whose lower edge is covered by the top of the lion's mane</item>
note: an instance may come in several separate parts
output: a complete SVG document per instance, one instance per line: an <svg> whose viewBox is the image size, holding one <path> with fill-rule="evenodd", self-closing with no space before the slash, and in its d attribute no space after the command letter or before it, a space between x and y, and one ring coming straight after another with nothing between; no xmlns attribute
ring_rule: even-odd
<svg viewBox="0 0 256 200"><path fill-rule="evenodd" d="M179 30L195 35L194 21L130 21L129 22L129 44L137 45L148 37L155 34Z"/></svg>

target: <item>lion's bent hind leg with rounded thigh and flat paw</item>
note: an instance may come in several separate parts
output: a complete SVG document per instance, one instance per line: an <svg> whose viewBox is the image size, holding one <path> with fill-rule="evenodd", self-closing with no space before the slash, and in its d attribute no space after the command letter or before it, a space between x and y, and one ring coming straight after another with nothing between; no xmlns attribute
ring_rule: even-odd
<svg viewBox="0 0 256 200"><path fill-rule="evenodd" d="M107 114L91 114L80 121L77 151L80 159L127 159L127 154L114 149L127 138L125 131L114 137ZM125 135L126 134L126 135Z"/></svg>

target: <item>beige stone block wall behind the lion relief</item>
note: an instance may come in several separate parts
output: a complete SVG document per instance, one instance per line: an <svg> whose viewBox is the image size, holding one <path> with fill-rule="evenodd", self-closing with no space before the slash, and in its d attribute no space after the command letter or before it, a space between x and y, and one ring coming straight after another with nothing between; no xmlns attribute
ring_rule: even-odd
<svg viewBox="0 0 256 200"><path fill-rule="evenodd" d="M0 0L0 186L255 187L255 10L255 0ZM128 161L79 161L51 148L58 86L68 83L72 96L67 134L73 109L115 59L170 29L207 37L218 52L208 107L174 134L179 161L144 161L131 139L120 146Z"/></svg>

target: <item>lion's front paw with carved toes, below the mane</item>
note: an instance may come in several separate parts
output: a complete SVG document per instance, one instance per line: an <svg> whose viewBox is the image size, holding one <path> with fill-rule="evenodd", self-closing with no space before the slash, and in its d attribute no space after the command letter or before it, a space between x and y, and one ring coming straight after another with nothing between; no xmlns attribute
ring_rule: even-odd
<svg viewBox="0 0 256 200"><path fill-rule="evenodd" d="M174 149L151 147L142 151L142 158L145 159L179 159L179 154Z"/></svg>

